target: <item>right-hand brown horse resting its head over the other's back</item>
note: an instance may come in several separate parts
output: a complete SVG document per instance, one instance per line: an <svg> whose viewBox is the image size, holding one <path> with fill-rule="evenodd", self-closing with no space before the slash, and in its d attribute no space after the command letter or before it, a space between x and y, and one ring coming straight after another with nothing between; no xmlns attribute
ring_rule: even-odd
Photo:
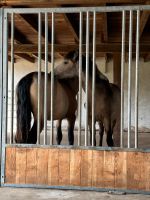
<svg viewBox="0 0 150 200"><path fill-rule="evenodd" d="M90 129L90 144L92 143L92 66L93 62L89 57L89 87L88 87L88 125ZM112 91L108 79L95 66L95 122L101 122L106 132L108 146L114 146L113 129L120 109L120 91ZM71 51L62 63L56 66L54 74L58 78L72 78L79 76L79 52ZM82 85L85 90L86 81L86 57L82 55ZM96 146L96 132L94 133L94 145ZM102 137L101 137L102 140ZM102 142L101 142L102 144ZM101 145L100 144L100 145ZM116 145L116 144L115 144Z"/></svg>

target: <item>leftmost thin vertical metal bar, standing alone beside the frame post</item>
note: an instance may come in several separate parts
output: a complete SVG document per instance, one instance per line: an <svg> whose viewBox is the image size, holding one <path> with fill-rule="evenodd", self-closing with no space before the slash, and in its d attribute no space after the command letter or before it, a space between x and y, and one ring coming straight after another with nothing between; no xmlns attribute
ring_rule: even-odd
<svg viewBox="0 0 150 200"><path fill-rule="evenodd" d="M14 13L11 14L11 115L10 144L13 143L14 125Z"/></svg>

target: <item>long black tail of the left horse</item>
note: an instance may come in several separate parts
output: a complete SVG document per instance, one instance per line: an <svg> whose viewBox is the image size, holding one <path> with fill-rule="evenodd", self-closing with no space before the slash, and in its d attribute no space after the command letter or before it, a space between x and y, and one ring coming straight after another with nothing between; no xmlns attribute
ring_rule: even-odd
<svg viewBox="0 0 150 200"><path fill-rule="evenodd" d="M31 99L30 86L33 81L33 73L23 77L16 88L17 98L17 132L16 142L26 143L31 126Z"/></svg>

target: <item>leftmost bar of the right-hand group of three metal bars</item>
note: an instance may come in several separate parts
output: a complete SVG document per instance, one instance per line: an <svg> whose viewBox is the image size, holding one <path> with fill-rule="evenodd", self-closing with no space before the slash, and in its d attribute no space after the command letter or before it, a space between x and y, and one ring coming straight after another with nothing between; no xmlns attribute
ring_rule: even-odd
<svg viewBox="0 0 150 200"><path fill-rule="evenodd" d="M125 24L126 13L122 11L122 50L121 50L121 137L120 145L123 147L123 128L124 128L124 65L125 65Z"/></svg>

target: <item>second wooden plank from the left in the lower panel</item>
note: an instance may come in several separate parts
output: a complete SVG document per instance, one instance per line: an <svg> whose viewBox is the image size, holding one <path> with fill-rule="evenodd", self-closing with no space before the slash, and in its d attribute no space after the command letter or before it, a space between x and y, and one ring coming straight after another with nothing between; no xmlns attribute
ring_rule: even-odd
<svg viewBox="0 0 150 200"><path fill-rule="evenodd" d="M26 148L16 148L16 184L26 183Z"/></svg>

